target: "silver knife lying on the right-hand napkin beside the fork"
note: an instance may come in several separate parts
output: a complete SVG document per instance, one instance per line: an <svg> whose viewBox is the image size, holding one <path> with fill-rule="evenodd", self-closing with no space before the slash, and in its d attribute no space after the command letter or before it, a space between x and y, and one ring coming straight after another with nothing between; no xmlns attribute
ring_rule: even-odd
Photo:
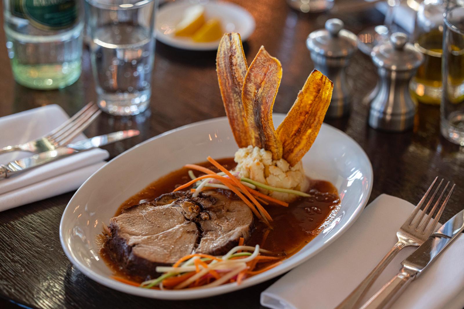
<svg viewBox="0 0 464 309"><path fill-rule="evenodd" d="M403 268L372 296L361 309L388 308L406 286L418 277L464 231L464 210L446 221L424 244L420 245L401 264Z"/></svg>

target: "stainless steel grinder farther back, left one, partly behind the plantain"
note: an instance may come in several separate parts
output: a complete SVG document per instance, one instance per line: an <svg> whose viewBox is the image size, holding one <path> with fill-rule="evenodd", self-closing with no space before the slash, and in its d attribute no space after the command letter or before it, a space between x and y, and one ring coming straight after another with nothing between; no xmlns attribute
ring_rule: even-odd
<svg viewBox="0 0 464 309"><path fill-rule="evenodd" d="M327 116L338 118L348 114L351 105L351 83L345 73L350 58L357 49L356 35L343 29L340 19L328 19L325 29L309 33L306 46L317 70L334 83Z"/></svg>

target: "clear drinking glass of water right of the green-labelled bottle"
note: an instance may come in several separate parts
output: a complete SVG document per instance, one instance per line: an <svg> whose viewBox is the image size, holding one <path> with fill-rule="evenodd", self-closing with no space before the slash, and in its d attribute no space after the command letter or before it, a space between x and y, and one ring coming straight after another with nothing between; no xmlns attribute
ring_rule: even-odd
<svg viewBox="0 0 464 309"><path fill-rule="evenodd" d="M151 96L157 0L85 3L97 104L112 115L139 114Z"/></svg>

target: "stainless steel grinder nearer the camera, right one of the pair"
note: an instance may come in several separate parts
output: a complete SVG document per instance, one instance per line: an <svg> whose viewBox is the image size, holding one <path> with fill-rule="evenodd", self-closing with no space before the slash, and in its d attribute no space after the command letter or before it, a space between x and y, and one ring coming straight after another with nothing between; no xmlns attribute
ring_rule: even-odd
<svg viewBox="0 0 464 309"><path fill-rule="evenodd" d="M407 41L405 33L395 32L389 42L375 46L371 53L380 77L369 95L369 125L374 129L399 132L414 124L417 103L409 94L409 81L424 56Z"/></svg>

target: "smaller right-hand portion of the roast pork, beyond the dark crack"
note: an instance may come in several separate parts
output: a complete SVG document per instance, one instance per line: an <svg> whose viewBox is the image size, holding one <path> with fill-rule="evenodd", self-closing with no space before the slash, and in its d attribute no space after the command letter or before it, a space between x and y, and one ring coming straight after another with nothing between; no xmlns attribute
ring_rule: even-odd
<svg viewBox="0 0 464 309"><path fill-rule="evenodd" d="M238 240L250 236L253 228L253 213L241 200L230 199L215 191L206 191L203 196L216 202L203 207L209 219L200 220L201 240L195 252L223 255L238 245Z"/></svg>

